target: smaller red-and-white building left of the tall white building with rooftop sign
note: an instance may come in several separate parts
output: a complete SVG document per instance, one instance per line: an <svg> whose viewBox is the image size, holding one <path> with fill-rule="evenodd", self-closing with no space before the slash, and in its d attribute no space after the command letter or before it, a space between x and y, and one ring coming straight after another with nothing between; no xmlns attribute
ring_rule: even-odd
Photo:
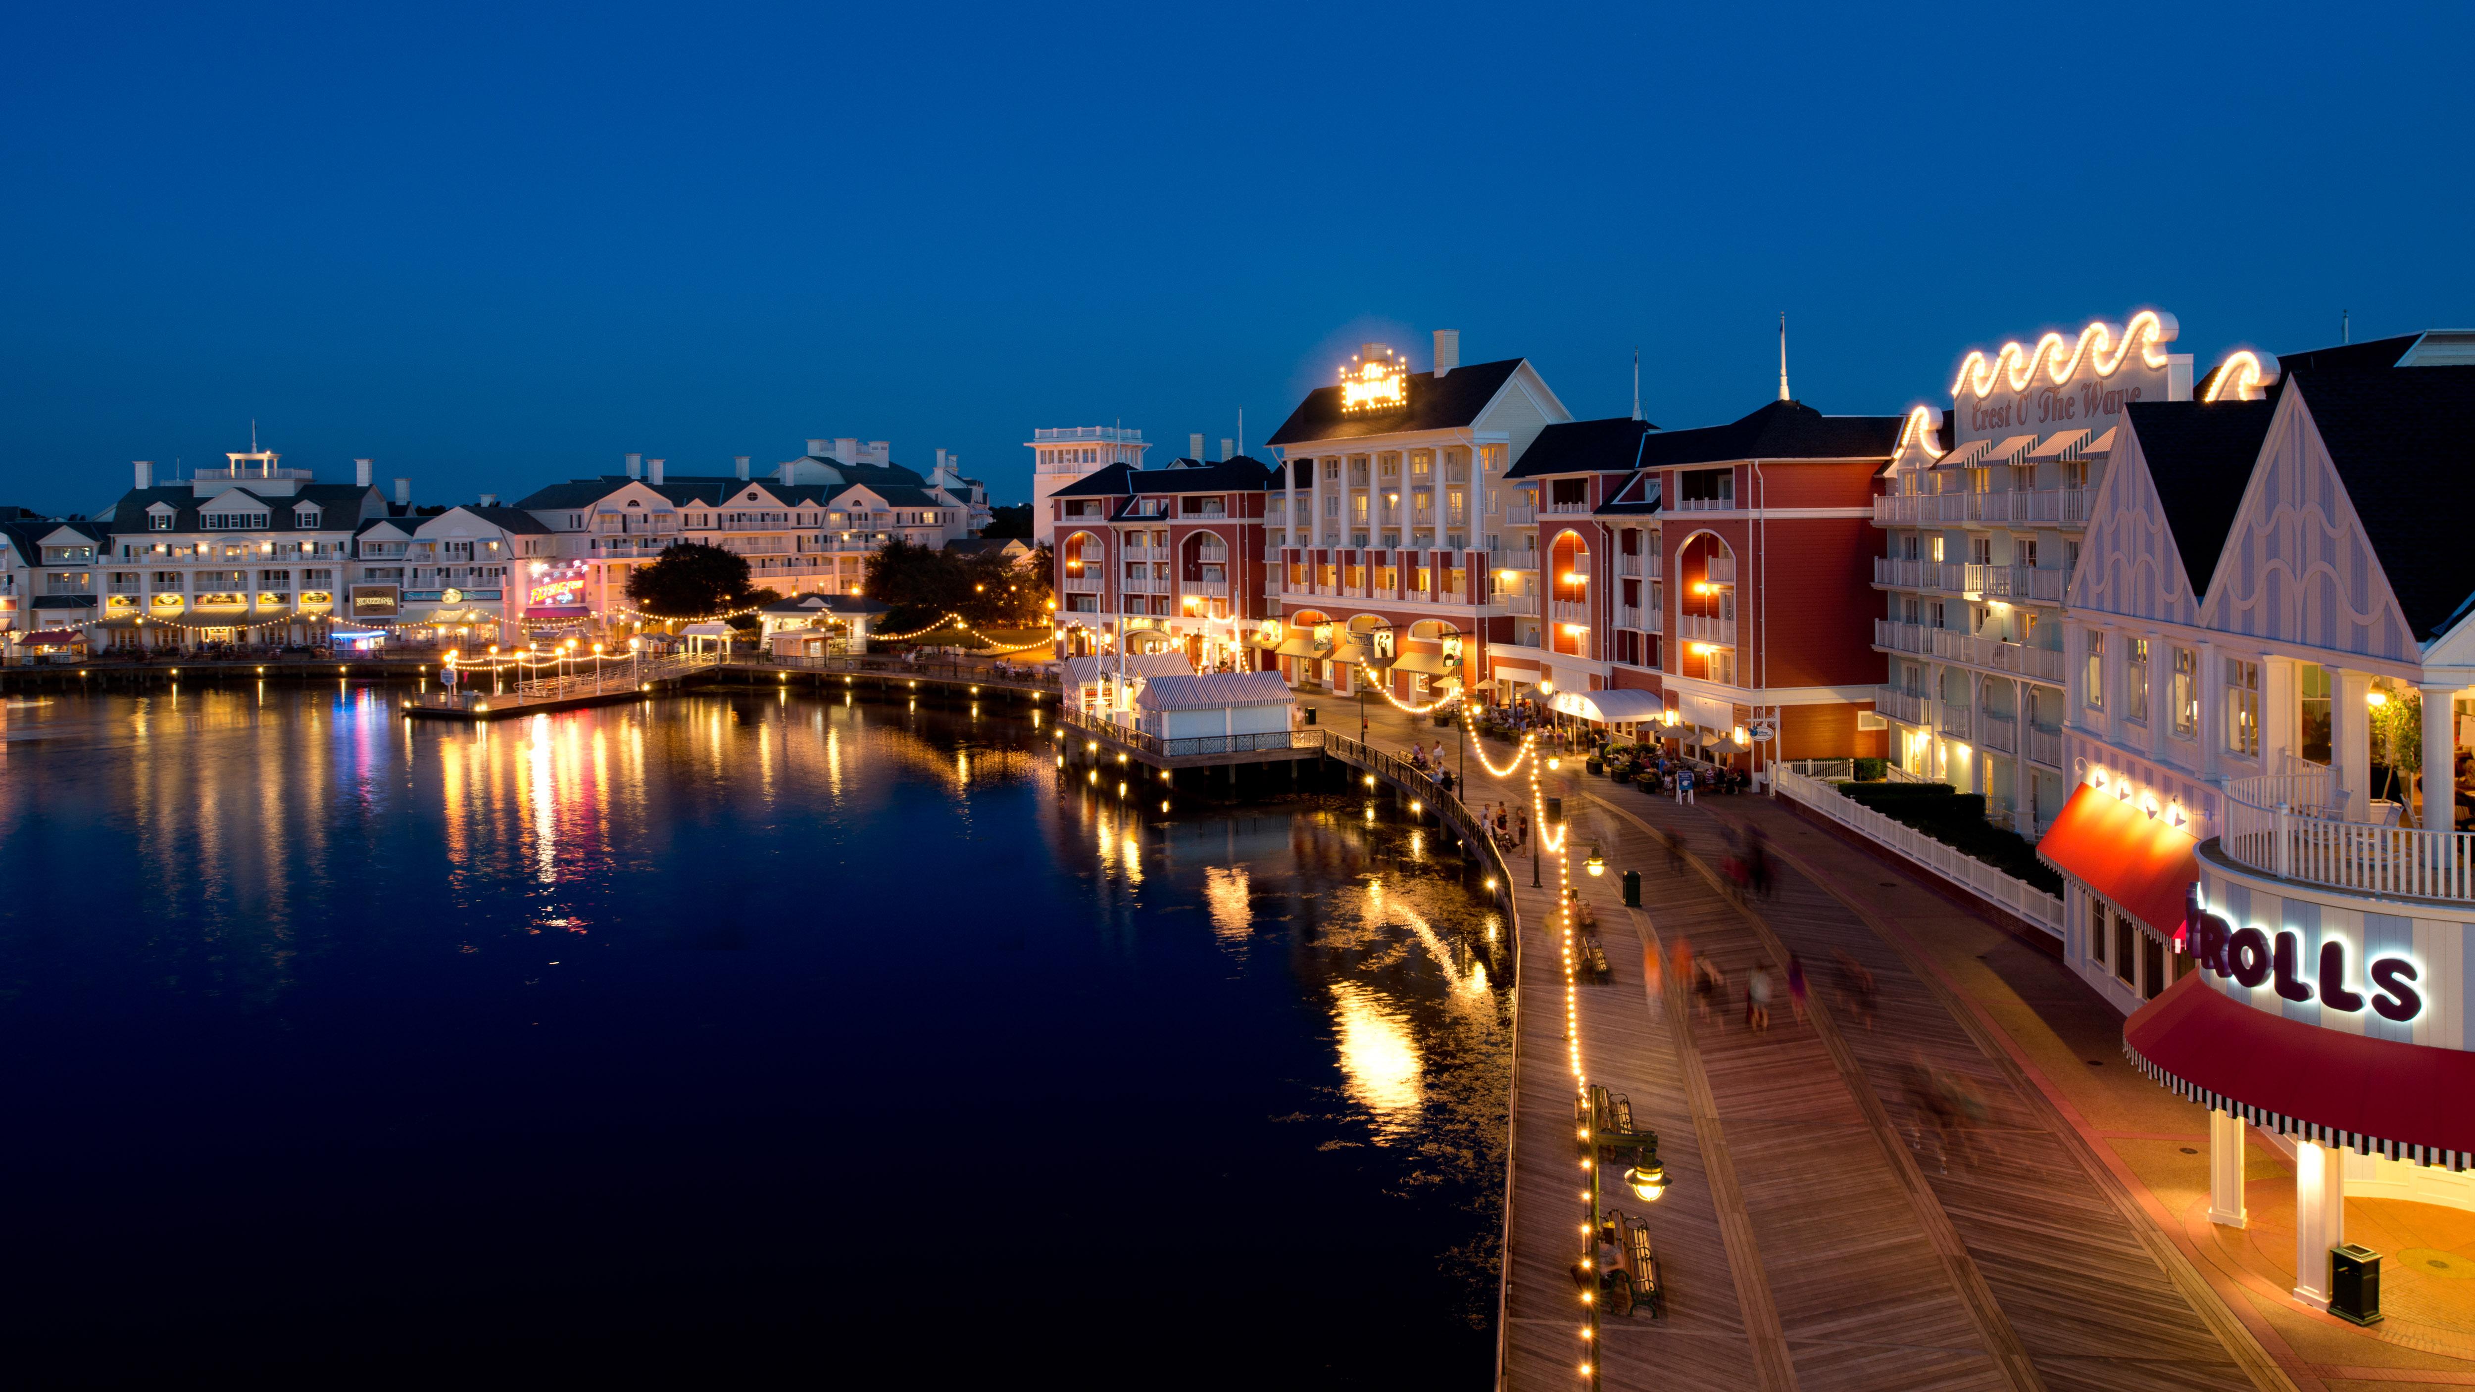
<svg viewBox="0 0 2475 1392"><path fill-rule="evenodd" d="M1059 653L1176 648L1198 670L1250 668L1272 487L1272 470L1238 455L1116 462L1049 492Z"/></svg>

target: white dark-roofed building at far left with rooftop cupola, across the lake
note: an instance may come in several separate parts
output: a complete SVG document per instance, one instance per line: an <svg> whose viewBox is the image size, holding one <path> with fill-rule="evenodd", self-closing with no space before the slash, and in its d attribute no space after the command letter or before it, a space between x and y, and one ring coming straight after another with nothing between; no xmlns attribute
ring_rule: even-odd
<svg viewBox="0 0 2475 1392"><path fill-rule="evenodd" d="M322 485L275 450L233 450L225 467L158 485L134 465L134 487L94 517L101 556L82 616L97 648L188 650L200 643L319 645L349 618L356 537L376 519L411 524L411 480L389 502L371 460L354 482ZM59 549L62 554L69 546ZM47 574L45 586L79 581Z"/></svg>

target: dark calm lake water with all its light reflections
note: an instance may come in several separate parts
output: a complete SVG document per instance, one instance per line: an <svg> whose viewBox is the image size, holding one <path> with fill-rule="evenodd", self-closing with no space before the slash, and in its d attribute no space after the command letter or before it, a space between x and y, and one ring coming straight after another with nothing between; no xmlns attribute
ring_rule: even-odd
<svg viewBox="0 0 2475 1392"><path fill-rule="evenodd" d="M1129 811L1044 734L12 700L10 1360L1483 1387L1510 959L1450 843Z"/></svg>

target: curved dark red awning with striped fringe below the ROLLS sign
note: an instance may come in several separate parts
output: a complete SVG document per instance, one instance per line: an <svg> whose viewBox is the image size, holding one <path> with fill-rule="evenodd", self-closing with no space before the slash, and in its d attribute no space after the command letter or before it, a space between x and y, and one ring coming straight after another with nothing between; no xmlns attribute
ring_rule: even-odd
<svg viewBox="0 0 2475 1392"><path fill-rule="evenodd" d="M2272 1016L2203 972L2124 1021L2124 1053L2176 1093L2319 1145L2475 1167L2475 1053Z"/></svg>

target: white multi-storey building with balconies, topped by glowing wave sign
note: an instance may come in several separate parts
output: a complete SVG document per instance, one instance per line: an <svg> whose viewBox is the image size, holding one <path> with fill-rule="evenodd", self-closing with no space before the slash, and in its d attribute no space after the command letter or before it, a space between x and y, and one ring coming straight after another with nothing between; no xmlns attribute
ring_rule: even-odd
<svg viewBox="0 0 2475 1392"><path fill-rule="evenodd" d="M2064 586L2128 403L2190 398L2173 314L1970 351L1948 415L1916 408L1874 499L1876 710L1911 774L2037 836L2062 808Z"/></svg>

